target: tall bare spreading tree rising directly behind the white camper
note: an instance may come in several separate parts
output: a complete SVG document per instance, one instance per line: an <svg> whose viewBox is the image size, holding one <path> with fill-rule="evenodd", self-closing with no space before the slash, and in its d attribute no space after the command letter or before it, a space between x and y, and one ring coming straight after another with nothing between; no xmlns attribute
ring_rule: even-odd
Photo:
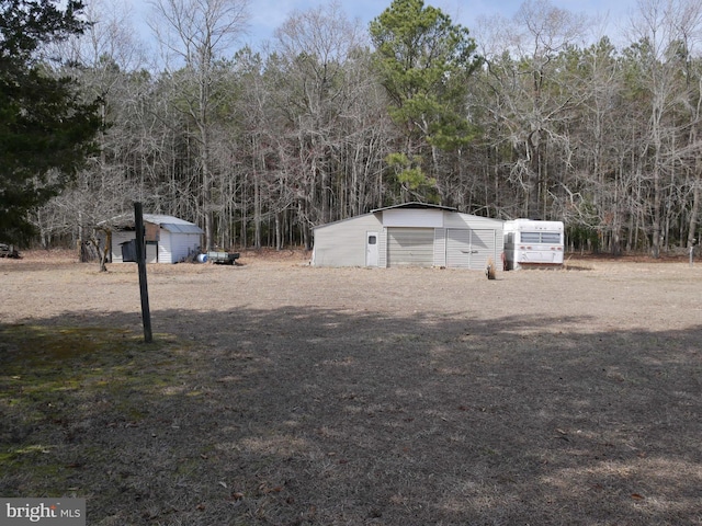
<svg viewBox="0 0 702 526"><path fill-rule="evenodd" d="M578 87L566 84L559 57L582 42L588 21L546 0L528 0L512 21L494 21L492 27L497 43L486 52L499 53L486 57L488 81L498 100L501 138L517 153L510 178L525 196L519 215L543 218L553 176L548 150L568 148L564 119L582 96Z"/></svg>

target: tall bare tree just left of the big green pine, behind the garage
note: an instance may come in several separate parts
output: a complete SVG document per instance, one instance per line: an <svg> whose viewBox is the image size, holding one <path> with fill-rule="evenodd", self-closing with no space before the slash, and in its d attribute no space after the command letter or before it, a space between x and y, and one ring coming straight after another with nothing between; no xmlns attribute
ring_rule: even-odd
<svg viewBox="0 0 702 526"><path fill-rule="evenodd" d="M296 167L293 175L301 184L297 195L306 231L331 220L332 204L340 203L333 179L342 173L338 159L344 124L353 119L350 105L364 84L349 65L364 46L359 23L338 3L293 13L276 32L275 67L285 85L275 94L275 104L287 121L283 125L292 146L281 151L291 155L290 165Z"/></svg>

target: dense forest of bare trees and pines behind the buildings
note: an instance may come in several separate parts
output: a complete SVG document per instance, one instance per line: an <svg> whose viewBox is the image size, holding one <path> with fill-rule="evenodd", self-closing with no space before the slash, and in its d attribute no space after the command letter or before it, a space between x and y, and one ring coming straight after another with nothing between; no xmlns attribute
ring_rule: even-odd
<svg viewBox="0 0 702 526"><path fill-rule="evenodd" d="M367 26L331 1L259 49L237 46L244 0L149 4L148 46L95 0L84 34L46 50L103 126L31 214L44 247L86 242L135 201L224 249L310 248L317 225L408 201L563 220L576 250L697 241L699 1L643 0L623 45L547 0L469 28L421 0Z"/></svg>

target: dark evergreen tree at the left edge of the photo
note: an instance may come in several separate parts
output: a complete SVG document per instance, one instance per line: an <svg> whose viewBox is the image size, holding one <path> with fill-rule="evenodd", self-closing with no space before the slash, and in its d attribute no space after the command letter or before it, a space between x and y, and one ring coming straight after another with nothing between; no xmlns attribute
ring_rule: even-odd
<svg viewBox="0 0 702 526"><path fill-rule="evenodd" d="M100 126L95 105L75 82L53 75L41 52L80 34L83 4L65 10L50 0L0 0L0 239L33 232L27 211L67 183L91 150Z"/></svg>

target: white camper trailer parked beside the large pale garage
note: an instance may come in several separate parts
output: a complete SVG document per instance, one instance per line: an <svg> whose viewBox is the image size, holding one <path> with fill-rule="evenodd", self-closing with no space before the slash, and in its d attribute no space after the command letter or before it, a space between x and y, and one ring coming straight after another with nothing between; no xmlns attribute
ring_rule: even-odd
<svg viewBox="0 0 702 526"><path fill-rule="evenodd" d="M506 270L562 266L563 252L563 221L505 221Z"/></svg>

